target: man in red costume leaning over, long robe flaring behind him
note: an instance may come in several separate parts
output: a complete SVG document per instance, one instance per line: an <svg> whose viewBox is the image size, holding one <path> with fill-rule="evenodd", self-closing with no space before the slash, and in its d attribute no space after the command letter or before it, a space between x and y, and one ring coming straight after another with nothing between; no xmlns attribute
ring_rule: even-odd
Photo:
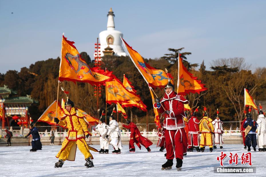
<svg viewBox="0 0 266 177"><path fill-rule="evenodd" d="M130 120L126 120L126 123L128 125L122 124L123 127L130 129L130 140L129 140L129 152L135 152L135 146L134 143L141 149L140 144L144 146L148 152L150 152L149 146L152 145L152 142L145 138L144 136L141 136L140 131L138 130L138 127L133 122L130 122Z"/></svg>

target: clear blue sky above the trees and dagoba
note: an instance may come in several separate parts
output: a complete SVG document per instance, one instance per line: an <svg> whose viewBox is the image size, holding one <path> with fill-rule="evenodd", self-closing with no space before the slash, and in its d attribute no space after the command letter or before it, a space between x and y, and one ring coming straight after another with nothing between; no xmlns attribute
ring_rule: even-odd
<svg viewBox="0 0 266 177"><path fill-rule="evenodd" d="M207 69L229 57L266 67L266 1L0 0L0 73L60 56L63 32L92 57L110 7L115 29L143 57L185 47L188 61L204 59Z"/></svg>

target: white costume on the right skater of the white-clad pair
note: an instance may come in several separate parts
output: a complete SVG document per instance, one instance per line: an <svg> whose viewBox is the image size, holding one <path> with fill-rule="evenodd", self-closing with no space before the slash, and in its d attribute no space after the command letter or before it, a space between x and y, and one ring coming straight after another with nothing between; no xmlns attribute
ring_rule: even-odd
<svg viewBox="0 0 266 177"><path fill-rule="evenodd" d="M118 123L116 120L111 120L110 125L107 126L108 132L107 135L111 137L110 144L115 148L115 150L122 149L122 143L121 143L121 135Z"/></svg>

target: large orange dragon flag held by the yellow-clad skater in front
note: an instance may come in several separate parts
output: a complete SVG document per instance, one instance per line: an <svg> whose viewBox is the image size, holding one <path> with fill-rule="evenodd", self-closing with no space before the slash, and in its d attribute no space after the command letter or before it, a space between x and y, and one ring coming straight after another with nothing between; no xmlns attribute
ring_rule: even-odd
<svg viewBox="0 0 266 177"><path fill-rule="evenodd" d="M61 61L59 68L59 81L88 82L92 85L100 85L113 78L111 72L105 72L98 67L90 68L80 57L80 53L73 41L62 38Z"/></svg>

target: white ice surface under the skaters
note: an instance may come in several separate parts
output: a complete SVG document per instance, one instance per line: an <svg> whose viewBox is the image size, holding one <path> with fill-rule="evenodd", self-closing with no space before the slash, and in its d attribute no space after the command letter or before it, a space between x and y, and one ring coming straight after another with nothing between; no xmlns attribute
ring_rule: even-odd
<svg viewBox="0 0 266 177"><path fill-rule="evenodd" d="M99 145L92 145L99 149ZM188 152L183 160L182 171L175 168L176 160L171 170L161 170L161 165L166 162L164 152L159 152L155 145L151 146L148 153L144 147L136 149L135 153L128 152L128 145L124 145L122 154L99 154L92 152L94 168L86 168L83 154L77 149L75 161L65 161L62 168L54 168L58 161L55 155L61 146L43 146L43 150L29 152L31 146L0 147L0 176L266 176L266 152L252 152L253 167L256 174L214 174L213 167L219 167L216 160L221 155L221 150L209 152ZM137 147L136 147L137 148ZM110 148L111 152L112 149ZM241 154L247 152L240 144L225 144L223 151L228 156L223 160L225 167L229 165L229 152Z"/></svg>

